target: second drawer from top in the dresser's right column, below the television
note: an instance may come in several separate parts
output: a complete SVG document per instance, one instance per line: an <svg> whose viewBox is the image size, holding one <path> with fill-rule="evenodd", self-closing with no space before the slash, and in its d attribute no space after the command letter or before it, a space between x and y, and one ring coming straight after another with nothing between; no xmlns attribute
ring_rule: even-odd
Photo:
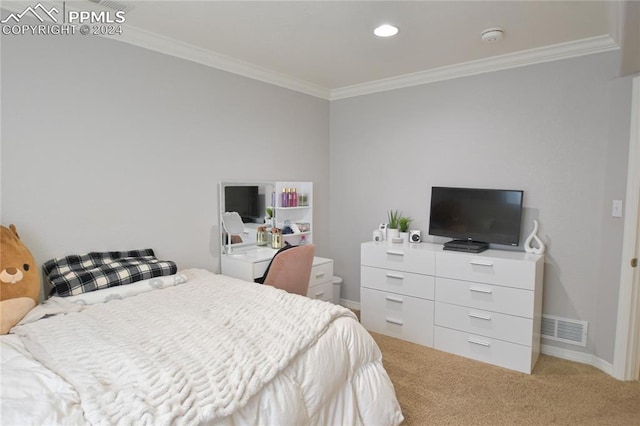
<svg viewBox="0 0 640 426"><path fill-rule="evenodd" d="M534 293L518 288L436 277L438 302L533 318Z"/></svg>

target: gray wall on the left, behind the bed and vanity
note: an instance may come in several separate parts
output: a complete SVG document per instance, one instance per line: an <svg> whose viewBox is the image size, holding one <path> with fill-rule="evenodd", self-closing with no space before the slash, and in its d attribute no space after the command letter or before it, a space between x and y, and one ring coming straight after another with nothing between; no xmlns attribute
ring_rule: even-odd
<svg viewBox="0 0 640 426"><path fill-rule="evenodd" d="M314 182L329 256L325 100L99 37L2 37L2 224L38 263L151 247L219 270L220 180Z"/></svg>

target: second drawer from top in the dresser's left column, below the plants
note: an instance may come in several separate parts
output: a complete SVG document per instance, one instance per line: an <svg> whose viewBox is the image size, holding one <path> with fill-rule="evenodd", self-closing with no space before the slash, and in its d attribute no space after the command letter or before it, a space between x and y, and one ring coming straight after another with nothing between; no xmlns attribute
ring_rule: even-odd
<svg viewBox="0 0 640 426"><path fill-rule="evenodd" d="M433 300L435 291L435 278L431 275L372 268L371 266L360 268L360 282L362 287L431 300Z"/></svg>

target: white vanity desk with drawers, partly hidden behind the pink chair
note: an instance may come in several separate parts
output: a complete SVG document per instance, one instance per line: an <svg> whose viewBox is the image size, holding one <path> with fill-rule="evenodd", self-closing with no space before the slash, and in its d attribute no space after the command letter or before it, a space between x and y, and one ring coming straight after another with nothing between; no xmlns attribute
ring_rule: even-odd
<svg viewBox="0 0 640 426"><path fill-rule="evenodd" d="M277 251L268 247L254 246L239 248L235 253L223 254L220 261L221 273L245 281L253 281L264 275ZM314 257L307 296L331 302L333 300L332 278L333 259Z"/></svg>

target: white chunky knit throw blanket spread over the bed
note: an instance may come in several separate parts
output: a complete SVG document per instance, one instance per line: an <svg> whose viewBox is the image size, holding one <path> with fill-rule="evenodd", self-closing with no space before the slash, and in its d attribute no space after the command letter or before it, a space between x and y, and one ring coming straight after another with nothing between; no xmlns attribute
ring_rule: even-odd
<svg viewBox="0 0 640 426"><path fill-rule="evenodd" d="M91 424L202 424L242 407L335 318L353 316L270 286L184 272L185 284L75 306L14 332L77 389Z"/></svg>

